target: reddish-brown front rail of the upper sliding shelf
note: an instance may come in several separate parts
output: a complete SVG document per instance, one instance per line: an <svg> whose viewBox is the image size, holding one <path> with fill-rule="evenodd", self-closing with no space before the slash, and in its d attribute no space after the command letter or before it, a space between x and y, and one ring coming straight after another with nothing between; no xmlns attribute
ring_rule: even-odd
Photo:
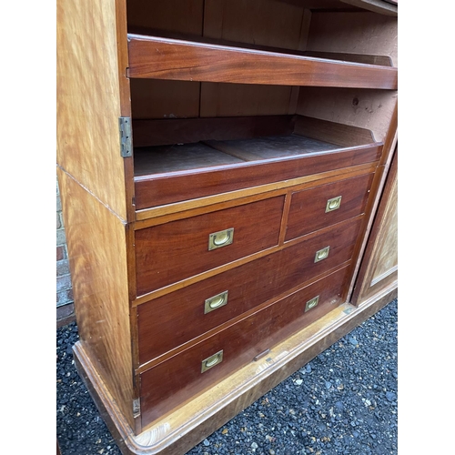
<svg viewBox="0 0 455 455"><path fill-rule="evenodd" d="M128 77L279 86L398 88L390 66L128 34Z"/></svg>

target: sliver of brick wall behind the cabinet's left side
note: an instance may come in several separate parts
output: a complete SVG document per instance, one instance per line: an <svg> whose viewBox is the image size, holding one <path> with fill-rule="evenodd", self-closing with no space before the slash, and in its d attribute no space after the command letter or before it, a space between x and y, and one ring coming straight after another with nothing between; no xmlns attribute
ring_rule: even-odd
<svg viewBox="0 0 455 455"><path fill-rule="evenodd" d="M74 320L73 288L68 265L62 201L56 182L56 321L57 327Z"/></svg>

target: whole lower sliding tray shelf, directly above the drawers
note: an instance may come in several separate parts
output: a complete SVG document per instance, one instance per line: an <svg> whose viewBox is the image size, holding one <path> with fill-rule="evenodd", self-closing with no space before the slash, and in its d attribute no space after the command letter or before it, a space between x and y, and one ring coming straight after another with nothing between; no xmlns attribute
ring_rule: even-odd
<svg viewBox="0 0 455 455"><path fill-rule="evenodd" d="M151 146L134 151L136 210L365 165L382 150L367 129L305 116L139 120L133 129L136 146Z"/></svg>

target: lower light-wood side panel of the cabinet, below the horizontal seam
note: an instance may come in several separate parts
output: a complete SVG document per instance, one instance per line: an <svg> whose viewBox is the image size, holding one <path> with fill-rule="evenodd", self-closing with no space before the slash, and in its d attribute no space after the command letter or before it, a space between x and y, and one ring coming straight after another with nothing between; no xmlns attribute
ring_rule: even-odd
<svg viewBox="0 0 455 455"><path fill-rule="evenodd" d="M134 428L126 227L61 168L57 172L80 342Z"/></svg>

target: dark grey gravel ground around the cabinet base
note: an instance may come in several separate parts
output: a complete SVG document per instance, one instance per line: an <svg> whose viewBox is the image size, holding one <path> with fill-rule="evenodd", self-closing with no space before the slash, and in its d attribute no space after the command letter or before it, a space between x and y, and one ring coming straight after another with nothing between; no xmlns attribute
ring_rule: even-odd
<svg viewBox="0 0 455 455"><path fill-rule="evenodd" d="M398 301L311 360L187 455L398 453ZM121 455L79 379L76 324L56 331L62 455Z"/></svg>

